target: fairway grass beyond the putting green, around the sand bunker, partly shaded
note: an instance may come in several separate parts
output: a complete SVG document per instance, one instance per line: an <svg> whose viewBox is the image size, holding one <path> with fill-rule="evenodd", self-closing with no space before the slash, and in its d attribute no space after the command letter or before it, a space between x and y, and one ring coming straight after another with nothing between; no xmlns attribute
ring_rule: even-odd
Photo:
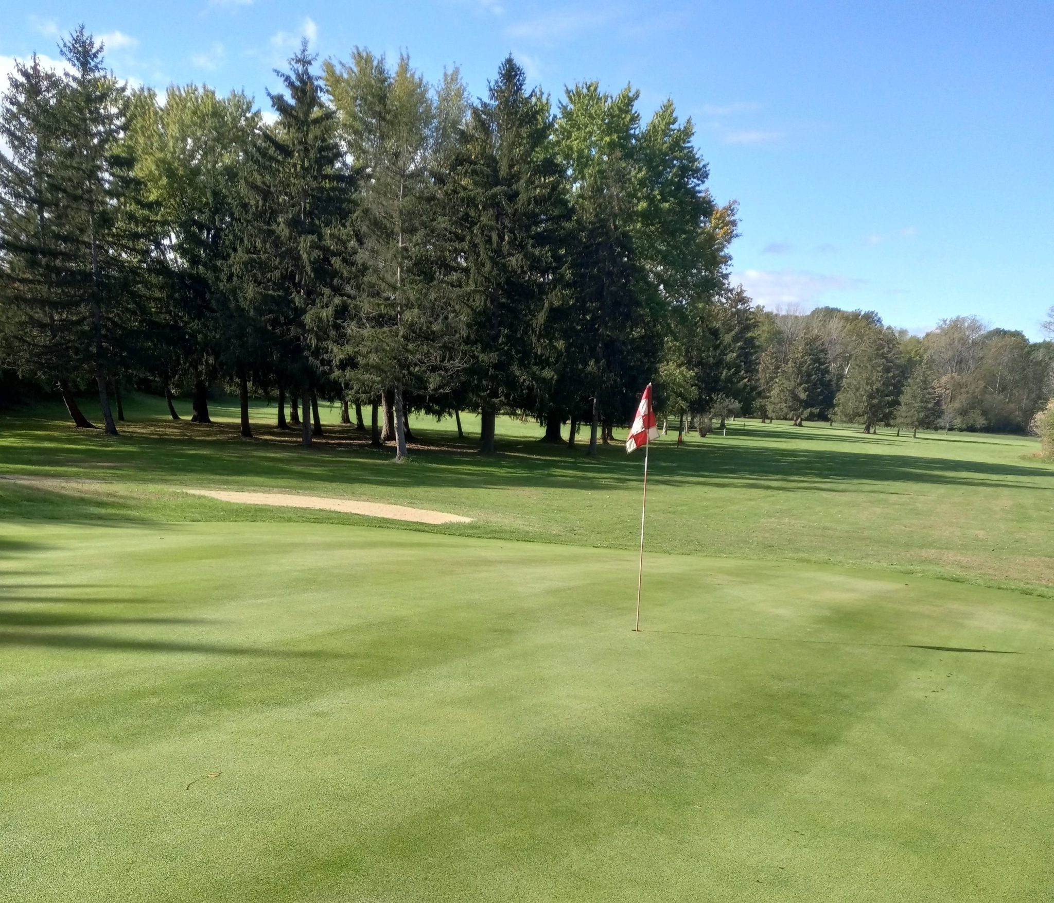
<svg viewBox="0 0 1054 903"><path fill-rule="evenodd" d="M590 460L581 447L538 441L533 423L505 420L502 454L483 459L471 416L461 441L451 422L417 418L421 445L399 466L390 449L370 449L362 434L336 424L336 408L324 408L327 437L311 450L262 425L273 422L273 406L254 409L252 441L237 437L230 404L213 412L220 421L213 426L174 423L160 400L136 398L116 440L72 429L58 407L7 418L0 472L102 482L0 481L0 505L36 519L364 522L179 492L280 489L449 511L475 522L422 529L467 536L622 549L637 541L642 458L621 445ZM649 546L862 563L1054 596L1054 466L1037 452L1022 437L912 439L757 421L680 448L667 437L651 459Z"/></svg>

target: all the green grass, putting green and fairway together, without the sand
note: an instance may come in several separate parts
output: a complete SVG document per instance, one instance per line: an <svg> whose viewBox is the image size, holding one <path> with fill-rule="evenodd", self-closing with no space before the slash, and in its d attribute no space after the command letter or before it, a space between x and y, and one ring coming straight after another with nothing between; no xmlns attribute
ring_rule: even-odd
<svg viewBox="0 0 1054 903"><path fill-rule="evenodd" d="M659 444L633 634L639 456L422 422L398 466L129 407L0 437L0 900L1054 895L1034 443Z"/></svg>

